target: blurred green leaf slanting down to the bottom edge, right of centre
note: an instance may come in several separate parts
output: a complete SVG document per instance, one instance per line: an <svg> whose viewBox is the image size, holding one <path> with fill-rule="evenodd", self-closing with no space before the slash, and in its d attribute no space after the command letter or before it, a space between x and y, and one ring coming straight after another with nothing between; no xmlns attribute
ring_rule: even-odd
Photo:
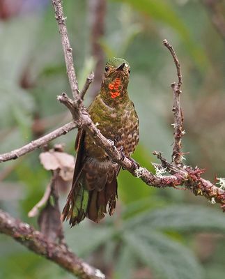
<svg viewBox="0 0 225 279"><path fill-rule="evenodd" d="M163 234L126 232L123 236L142 264L153 270L160 279L201 279L203 271L190 250Z"/></svg>

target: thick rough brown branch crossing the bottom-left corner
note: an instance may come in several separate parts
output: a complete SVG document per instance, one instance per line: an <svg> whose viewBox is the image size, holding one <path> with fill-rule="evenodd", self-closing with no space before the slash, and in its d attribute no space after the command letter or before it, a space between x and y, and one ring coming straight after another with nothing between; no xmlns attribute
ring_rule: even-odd
<svg viewBox="0 0 225 279"><path fill-rule="evenodd" d="M79 259L64 245L49 242L45 236L29 224L22 223L0 210L0 232L13 237L29 250L59 264L63 269L81 279L104 279L100 270Z"/></svg>

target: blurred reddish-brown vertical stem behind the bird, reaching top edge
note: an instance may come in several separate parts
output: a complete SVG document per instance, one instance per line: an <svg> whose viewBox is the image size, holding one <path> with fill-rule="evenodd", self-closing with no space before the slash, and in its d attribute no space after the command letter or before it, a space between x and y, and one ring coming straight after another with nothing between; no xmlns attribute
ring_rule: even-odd
<svg viewBox="0 0 225 279"><path fill-rule="evenodd" d="M89 13L91 26L91 54L96 59L95 78L91 85L91 96L95 97L100 90L104 70L104 52L100 46L100 38L104 35L104 17L106 14L106 0L89 0Z"/></svg>

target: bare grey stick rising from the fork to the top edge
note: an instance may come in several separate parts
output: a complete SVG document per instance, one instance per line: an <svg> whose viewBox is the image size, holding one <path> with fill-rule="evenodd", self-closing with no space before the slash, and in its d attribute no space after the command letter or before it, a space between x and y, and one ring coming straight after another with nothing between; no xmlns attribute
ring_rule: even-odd
<svg viewBox="0 0 225 279"><path fill-rule="evenodd" d="M63 45L63 52L65 57L65 65L72 90L73 98L77 99L79 94L78 82L75 73L74 63L72 59L72 47L70 46L70 40L68 38L68 31L65 26L66 17L63 15L63 7L61 0L52 0L52 4L55 11L55 17L59 26L59 33L61 34L61 42Z"/></svg>

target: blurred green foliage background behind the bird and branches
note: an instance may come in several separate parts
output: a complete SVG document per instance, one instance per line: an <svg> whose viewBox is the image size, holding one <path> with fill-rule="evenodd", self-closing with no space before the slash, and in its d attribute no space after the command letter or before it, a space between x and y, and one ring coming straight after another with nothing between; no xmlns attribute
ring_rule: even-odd
<svg viewBox="0 0 225 279"><path fill-rule="evenodd" d="M56 101L70 88L50 2L0 1L1 153L70 121L70 114ZM101 38L91 33L96 16L92 5L98 2L63 3L80 88L98 59L122 56L130 62L129 92L141 135L134 158L153 171L151 162L157 160L152 151L162 151L170 160L173 144L170 84L177 77L171 55L162 45L166 38L183 72L186 163L205 168L203 176L211 181L225 176L225 24L219 22L224 20L224 1L100 1L106 5ZM93 50L95 44L103 50L100 56ZM93 88L86 94L86 105L94 94ZM65 151L74 154L75 133L50 146L65 143ZM36 218L28 218L27 213L50 179L39 154L40 150L34 151L0 166L1 209L36 228ZM65 239L79 257L110 279L224 278L225 215L218 205L187 190L150 188L125 171L118 180L113 217L98 225L85 220L73 229L64 224ZM60 195L62 208L66 191ZM0 278L50 276L72 278L0 235Z"/></svg>

